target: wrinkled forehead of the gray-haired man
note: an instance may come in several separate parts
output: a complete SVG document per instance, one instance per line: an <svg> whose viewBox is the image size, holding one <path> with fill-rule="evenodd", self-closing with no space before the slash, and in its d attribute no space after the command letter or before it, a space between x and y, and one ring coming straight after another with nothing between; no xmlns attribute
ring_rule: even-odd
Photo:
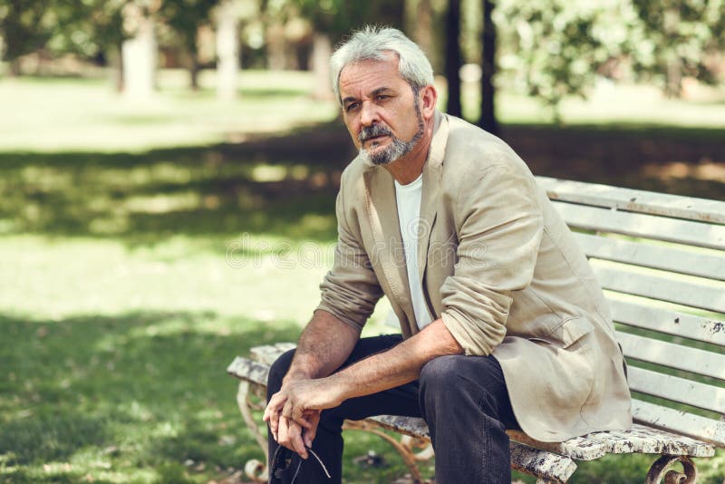
<svg viewBox="0 0 725 484"><path fill-rule="evenodd" d="M400 83L407 82L398 71L398 58L389 54L382 61L365 60L344 66L340 73L340 94L344 99L382 86L394 88Z"/></svg>

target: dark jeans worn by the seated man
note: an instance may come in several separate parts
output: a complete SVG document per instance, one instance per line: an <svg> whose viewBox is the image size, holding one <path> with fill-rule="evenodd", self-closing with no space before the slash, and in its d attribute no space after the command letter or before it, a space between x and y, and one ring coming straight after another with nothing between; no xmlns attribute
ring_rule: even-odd
<svg viewBox="0 0 725 484"><path fill-rule="evenodd" d="M399 334L362 338L343 367L400 342ZM282 386L294 354L294 350L287 352L272 365L267 400ZM295 483L342 482L343 421L362 420L372 415L425 419L436 454L437 484L511 481L506 429L517 429L518 425L501 367L493 356L441 356L423 366L420 379L415 382L353 398L323 411L312 448L332 479L327 479L310 455L302 463ZM269 435L271 459L277 443L271 432ZM292 462L295 467L298 459L295 454Z"/></svg>

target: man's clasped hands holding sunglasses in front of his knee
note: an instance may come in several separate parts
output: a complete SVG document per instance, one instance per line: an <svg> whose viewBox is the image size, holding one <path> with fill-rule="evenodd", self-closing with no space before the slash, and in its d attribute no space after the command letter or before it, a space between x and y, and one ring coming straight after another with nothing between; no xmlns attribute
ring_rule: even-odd
<svg viewBox="0 0 725 484"><path fill-rule="evenodd" d="M328 379L291 380L283 383L266 405L264 421L274 439L307 459L320 422L320 411L338 406L342 394Z"/></svg>

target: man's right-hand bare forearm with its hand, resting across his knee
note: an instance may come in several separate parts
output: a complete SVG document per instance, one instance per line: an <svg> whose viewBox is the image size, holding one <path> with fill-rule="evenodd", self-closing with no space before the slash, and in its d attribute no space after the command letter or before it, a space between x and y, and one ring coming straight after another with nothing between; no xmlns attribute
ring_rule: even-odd
<svg viewBox="0 0 725 484"><path fill-rule="evenodd" d="M316 380L289 382L285 400L270 401L267 411L279 412L288 421L311 428L316 421L306 417L310 411L333 408L350 398L412 382L433 358L459 353L463 353L463 347L438 319L390 350L373 354L340 372Z"/></svg>

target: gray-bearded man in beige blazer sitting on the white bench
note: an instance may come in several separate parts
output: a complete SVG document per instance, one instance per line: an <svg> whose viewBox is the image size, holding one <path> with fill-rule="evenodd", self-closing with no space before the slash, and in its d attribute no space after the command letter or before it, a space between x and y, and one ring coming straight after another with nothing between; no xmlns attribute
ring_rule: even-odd
<svg viewBox="0 0 725 484"><path fill-rule="evenodd" d="M269 376L270 457L281 444L302 458L297 482L340 482L344 419L420 416L436 482L498 483L507 428L543 441L628 428L601 288L526 164L436 110L430 63L399 31L355 33L331 64L360 154L322 303ZM361 339L383 294L402 335Z"/></svg>

